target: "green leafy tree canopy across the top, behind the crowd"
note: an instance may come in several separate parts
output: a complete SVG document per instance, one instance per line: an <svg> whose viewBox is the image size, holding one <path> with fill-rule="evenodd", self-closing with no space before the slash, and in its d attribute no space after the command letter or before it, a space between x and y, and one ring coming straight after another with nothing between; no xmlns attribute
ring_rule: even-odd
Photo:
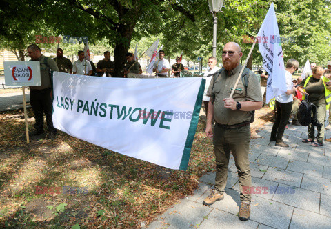
<svg viewBox="0 0 331 229"><path fill-rule="evenodd" d="M248 54L251 44L243 36L256 36L272 2L281 36L295 41L282 43L285 61L310 59L323 65L330 60L329 0L224 1L217 13L217 58L228 41ZM189 60L212 53L213 18L205 0L13 0L5 1L0 14L1 46L23 49L36 34L85 36L90 43L114 48L116 74L130 47L137 43L143 52L156 37L172 58L181 52ZM261 63L257 47L253 59Z"/></svg>

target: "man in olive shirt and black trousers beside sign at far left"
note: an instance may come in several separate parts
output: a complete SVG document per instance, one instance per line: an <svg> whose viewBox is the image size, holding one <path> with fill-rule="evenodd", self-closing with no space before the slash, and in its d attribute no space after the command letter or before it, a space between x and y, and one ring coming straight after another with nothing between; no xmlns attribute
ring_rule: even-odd
<svg viewBox="0 0 331 229"><path fill-rule="evenodd" d="M52 121L52 83L50 70L59 72L57 63L49 57L43 56L39 46L32 44L28 46L28 55L31 61L40 61L41 86L30 86L30 104L34 112L34 128L32 135L43 134L43 113L46 116L48 128L48 139L54 139L57 135L57 129L53 126Z"/></svg>

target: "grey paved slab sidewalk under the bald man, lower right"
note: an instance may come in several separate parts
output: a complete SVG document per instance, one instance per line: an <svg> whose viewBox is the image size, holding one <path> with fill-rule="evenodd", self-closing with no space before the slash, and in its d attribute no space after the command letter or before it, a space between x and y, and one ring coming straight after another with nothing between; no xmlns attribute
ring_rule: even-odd
<svg viewBox="0 0 331 229"><path fill-rule="evenodd" d="M231 157L223 201L203 206L215 173L204 175L194 195L181 199L146 228L331 228L331 143L302 143L307 128L289 125L283 140L290 148L276 147L269 141L272 124L251 141L252 186L268 190L252 194L250 220L237 217L239 183ZM331 137L331 130L325 137Z"/></svg>

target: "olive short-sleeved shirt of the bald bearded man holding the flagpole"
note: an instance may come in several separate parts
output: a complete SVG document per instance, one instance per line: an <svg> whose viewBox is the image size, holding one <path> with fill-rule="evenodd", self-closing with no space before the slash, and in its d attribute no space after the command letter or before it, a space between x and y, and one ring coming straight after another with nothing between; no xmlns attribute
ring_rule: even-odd
<svg viewBox="0 0 331 229"><path fill-rule="evenodd" d="M236 83L239 73L241 71L241 64L234 68L231 72L228 72L224 68L220 71L219 76L212 77L210 86L208 88L207 96L214 97L214 120L222 125L235 125L250 121L251 112L242 110L231 110L230 108L224 108L223 99L229 98L232 88ZM214 78L217 77L214 83ZM247 92L241 79L234 91L234 101L262 101L261 86L259 80L255 76L254 72L250 71L248 76Z"/></svg>

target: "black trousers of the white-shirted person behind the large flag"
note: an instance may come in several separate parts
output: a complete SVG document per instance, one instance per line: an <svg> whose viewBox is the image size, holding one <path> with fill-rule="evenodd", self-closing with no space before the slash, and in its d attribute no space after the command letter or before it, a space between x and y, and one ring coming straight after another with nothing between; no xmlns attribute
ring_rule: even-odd
<svg viewBox="0 0 331 229"><path fill-rule="evenodd" d="M292 103L279 103L276 101L274 106L276 108L276 120L274 121L274 126L272 126L271 139L276 139L276 143L281 143L283 141L283 135L285 131L285 126L288 123L288 119L291 115Z"/></svg>

